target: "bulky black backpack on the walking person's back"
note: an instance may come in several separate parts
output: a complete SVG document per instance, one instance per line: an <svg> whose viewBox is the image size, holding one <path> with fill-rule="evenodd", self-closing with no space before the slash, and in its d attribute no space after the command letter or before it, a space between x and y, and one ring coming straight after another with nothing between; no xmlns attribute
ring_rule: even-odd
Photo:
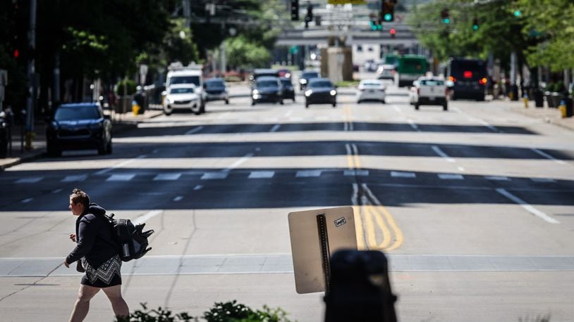
<svg viewBox="0 0 574 322"><path fill-rule="evenodd" d="M142 231L145 223L134 225L130 219L114 219L114 214L106 215L111 224L111 235L119 246L119 255L123 262L138 259L152 247L147 247L147 238L154 233L153 229Z"/></svg>

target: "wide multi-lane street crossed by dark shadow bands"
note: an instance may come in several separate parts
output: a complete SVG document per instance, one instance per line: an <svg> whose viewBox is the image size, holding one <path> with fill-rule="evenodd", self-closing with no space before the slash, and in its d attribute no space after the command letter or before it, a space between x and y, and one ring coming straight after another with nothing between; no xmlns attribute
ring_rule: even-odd
<svg viewBox="0 0 574 322"><path fill-rule="evenodd" d="M246 90L247 91L247 90ZM68 318L80 274L75 187L154 228L124 264L140 302L200 315L214 302L282 307L321 321L322 294L295 292L287 214L352 205L358 245L389 256L401 321L574 316L574 132L504 102L284 105L210 102L114 137L114 153L65 152L0 172L0 315ZM111 320L103 295L89 321Z"/></svg>

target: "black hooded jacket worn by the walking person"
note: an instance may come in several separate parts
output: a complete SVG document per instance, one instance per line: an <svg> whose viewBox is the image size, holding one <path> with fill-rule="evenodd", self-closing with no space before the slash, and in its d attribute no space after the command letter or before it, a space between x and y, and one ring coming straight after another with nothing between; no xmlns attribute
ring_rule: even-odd
<svg viewBox="0 0 574 322"><path fill-rule="evenodd" d="M118 254L118 245L111 236L111 225L104 216L106 210L95 203L75 220L75 240L78 243L66 257L71 264L85 257L90 266L97 268Z"/></svg>

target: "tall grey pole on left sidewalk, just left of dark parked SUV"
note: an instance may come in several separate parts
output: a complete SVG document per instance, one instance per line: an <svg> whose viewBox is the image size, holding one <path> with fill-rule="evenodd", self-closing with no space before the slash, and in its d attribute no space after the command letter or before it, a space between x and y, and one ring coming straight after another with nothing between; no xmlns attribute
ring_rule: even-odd
<svg viewBox="0 0 574 322"><path fill-rule="evenodd" d="M26 101L26 150L32 150L34 135L36 0L30 0L30 29L28 30L28 100Z"/></svg>

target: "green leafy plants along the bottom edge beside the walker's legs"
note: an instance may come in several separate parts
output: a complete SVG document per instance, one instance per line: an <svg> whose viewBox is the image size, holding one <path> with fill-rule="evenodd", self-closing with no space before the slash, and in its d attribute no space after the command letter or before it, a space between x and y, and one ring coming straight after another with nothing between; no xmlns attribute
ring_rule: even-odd
<svg viewBox="0 0 574 322"><path fill-rule="evenodd" d="M142 310L135 310L128 318L116 318L117 322L179 322L200 321L207 322L291 322L287 318L286 311L276 308L271 309L267 305L262 310L253 310L244 304L238 304L236 300L231 302L216 302L212 309L205 311L201 317L193 317L183 312L173 315L168 309L147 309L145 303L140 303Z"/></svg>

